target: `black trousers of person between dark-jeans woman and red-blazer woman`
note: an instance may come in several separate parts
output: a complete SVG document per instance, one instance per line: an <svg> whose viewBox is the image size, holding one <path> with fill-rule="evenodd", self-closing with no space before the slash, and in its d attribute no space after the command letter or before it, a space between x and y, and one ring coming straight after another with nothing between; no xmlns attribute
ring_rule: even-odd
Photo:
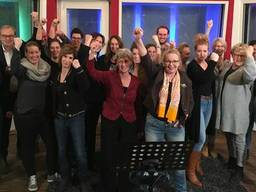
<svg viewBox="0 0 256 192"><path fill-rule="evenodd" d="M85 141L87 149L88 169L94 170L95 167L95 145L96 145L96 128L99 116L102 110L102 103L88 104L85 113Z"/></svg>

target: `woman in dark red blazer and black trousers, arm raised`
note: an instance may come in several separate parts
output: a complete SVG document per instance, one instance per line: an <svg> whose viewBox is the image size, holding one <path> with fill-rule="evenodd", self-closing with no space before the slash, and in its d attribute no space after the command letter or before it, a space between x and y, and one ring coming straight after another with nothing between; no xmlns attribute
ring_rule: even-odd
<svg viewBox="0 0 256 192"><path fill-rule="evenodd" d="M102 180L105 192L129 191L122 178L116 183L115 167L122 160L124 144L137 138L136 101L140 82L129 71L133 62L132 53L128 49L119 49L115 55L117 69L113 71L97 71L94 67L95 53L91 45L91 53L87 63L89 75L105 87L106 98L103 104L101 119L101 151ZM95 95L96 97L96 95ZM121 148L122 147L122 148ZM126 183L127 183L126 179ZM120 188L122 187L122 189Z"/></svg>

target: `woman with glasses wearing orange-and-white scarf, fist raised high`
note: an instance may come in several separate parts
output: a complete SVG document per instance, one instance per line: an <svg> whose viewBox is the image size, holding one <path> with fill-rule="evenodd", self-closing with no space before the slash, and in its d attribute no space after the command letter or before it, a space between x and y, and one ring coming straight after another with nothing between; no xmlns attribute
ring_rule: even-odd
<svg viewBox="0 0 256 192"><path fill-rule="evenodd" d="M134 31L135 43L142 56L148 79L144 104L148 110L145 139L149 142L184 141L185 120L193 107L192 87L186 73L179 72L180 54L176 49L163 53L163 65L153 64L142 42L143 30ZM186 192L185 170L174 171L175 189Z"/></svg>

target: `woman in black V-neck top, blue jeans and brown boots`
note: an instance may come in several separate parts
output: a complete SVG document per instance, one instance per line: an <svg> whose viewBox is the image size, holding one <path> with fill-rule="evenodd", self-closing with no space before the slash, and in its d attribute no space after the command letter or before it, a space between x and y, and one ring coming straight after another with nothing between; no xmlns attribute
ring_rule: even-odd
<svg viewBox="0 0 256 192"><path fill-rule="evenodd" d="M193 185L201 188L202 183L196 176L196 170L203 174L199 165L201 151L206 140L206 128L210 122L213 109L214 69L219 56L216 53L212 53L210 60L206 60L209 48L206 35L197 34L194 41L195 59L188 64L187 74L192 81L195 106L186 128L190 139L195 144L188 162L187 177Z"/></svg>

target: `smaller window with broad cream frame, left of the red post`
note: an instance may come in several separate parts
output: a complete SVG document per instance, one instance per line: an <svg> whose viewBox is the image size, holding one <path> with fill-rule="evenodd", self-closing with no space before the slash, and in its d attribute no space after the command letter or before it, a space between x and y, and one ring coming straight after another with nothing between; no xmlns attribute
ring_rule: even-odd
<svg viewBox="0 0 256 192"><path fill-rule="evenodd" d="M78 27L84 34L99 32L108 37L108 1L59 1L58 7L61 29L67 36L74 27Z"/></svg>

